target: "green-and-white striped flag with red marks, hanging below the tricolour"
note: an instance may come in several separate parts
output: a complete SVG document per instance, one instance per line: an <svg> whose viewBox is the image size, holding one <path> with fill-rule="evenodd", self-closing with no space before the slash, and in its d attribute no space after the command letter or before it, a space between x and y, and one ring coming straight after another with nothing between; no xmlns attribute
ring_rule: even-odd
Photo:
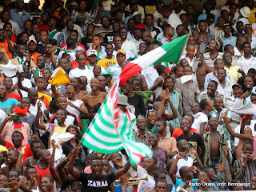
<svg viewBox="0 0 256 192"><path fill-rule="evenodd" d="M81 142L88 149L102 154L113 154L125 149L130 164L135 166L142 158L151 157L152 150L143 143L134 142L130 115L117 107L119 82L118 78Z"/></svg>

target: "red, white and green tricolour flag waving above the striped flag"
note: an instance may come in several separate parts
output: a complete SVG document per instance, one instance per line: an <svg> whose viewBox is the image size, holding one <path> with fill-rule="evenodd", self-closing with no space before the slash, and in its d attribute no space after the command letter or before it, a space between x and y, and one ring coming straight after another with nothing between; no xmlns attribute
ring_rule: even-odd
<svg viewBox="0 0 256 192"><path fill-rule="evenodd" d="M178 64L188 38L189 34L176 38L174 41L168 42L166 45L151 50L142 55L142 57L129 62L120 74L120 83L126 84L129 78L152 64L161 62L174 62Z"/></svg>

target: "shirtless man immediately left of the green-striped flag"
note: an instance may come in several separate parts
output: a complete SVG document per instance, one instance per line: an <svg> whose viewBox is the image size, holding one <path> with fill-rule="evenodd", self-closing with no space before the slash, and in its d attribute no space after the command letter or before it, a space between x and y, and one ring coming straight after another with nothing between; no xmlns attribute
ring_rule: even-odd
<svg viewBox="0 0 256 192"><path fill-rule="evenodd" d="M99 90L100 82L98 78L93 78L90 81L90 87L91 87L90 94L86 94L86 96L82 98L82 102L85 103L85 106L88 109L88 112L89 112L88 118L89 118L89 121L91 122L95 115L94 106L98 103L104 102L104 99L106 98L106 93L103 93Z"/></svg>

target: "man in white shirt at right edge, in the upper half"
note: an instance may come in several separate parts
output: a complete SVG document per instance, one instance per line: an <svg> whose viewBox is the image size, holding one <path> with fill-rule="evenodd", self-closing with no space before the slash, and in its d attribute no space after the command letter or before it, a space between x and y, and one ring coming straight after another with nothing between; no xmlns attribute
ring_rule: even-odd
<svg viewBox="0 0 256 192"><path fill-rule="evenodd" d="M242 70L247 74L250 68L256 68L256 58L250 54L250 42L244 42L242 44L242 50L244 55L241 58L238 58L235 62L236 66L240 66Z"/></svg>

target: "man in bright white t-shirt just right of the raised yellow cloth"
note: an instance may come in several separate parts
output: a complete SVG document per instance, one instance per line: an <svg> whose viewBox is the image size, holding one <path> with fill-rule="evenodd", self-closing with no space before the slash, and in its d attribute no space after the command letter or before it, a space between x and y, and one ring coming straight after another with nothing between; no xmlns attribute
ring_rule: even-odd
<svg viewBox="0 0 256 192"><path fill-rule="evenodd" d="M86 56L84 54L78 54L78 68L70 70L70 78L80 78L81 76L86 76L87 81L90 83L90 80L94 78L94 73L91 70L86 69Z"/></svg>

